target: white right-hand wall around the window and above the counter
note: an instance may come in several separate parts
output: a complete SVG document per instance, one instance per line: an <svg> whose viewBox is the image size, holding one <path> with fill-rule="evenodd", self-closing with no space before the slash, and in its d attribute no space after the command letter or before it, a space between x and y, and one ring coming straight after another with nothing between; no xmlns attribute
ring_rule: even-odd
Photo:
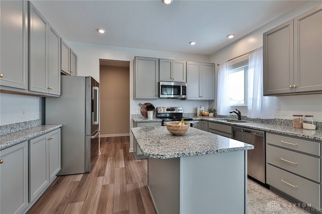
<svg viewBox="0 0 322 214"><path fill-rule="evenodd" d="M216 63L215 71L216 77L218 75L217 64L237 57L239 55L248 53L263 45L263 33L270 29L283 24L300 14L303 14L319 5L322 1L309 1L302 6L296 8L293 11L277 18L276 20L268 23L250 33L249 35L239 39L233 44L222 48L221 50L210 55L210 61ZM216 78L217 81L217 78ZM216 82L217 85L217 82ZM211 105L216 105L215 102L211 102ZM322 94L314 95L292 95L292 96L276 96L274 97L274 108L286 109L286 116L275 116L280 119L292 119L293 114L301 115L313 115L315 121L322 122ZM247 108L240 106L231 106L231 109L237 108L241 111L242 115L247 115Z"/></svg>

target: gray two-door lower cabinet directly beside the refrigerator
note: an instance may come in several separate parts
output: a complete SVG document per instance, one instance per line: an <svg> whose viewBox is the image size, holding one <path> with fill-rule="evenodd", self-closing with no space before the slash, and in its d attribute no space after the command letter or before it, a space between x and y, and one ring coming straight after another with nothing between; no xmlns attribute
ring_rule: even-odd
<svg viewBox="0 0 322 214"><path fill-rule="evenodd" d="M60 129L29 141L29 202L38 198L60 170Z"/></svg>

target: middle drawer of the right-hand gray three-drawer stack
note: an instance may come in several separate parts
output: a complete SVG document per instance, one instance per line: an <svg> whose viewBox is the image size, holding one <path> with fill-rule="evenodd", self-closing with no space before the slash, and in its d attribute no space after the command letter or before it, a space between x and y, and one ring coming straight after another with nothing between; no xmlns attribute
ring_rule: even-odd
<svg viewBox="0 0 322 214"><path fill-rule="evenodd" d="M316 182L320 181L319 158L266 145L266 162Z"/></svg>

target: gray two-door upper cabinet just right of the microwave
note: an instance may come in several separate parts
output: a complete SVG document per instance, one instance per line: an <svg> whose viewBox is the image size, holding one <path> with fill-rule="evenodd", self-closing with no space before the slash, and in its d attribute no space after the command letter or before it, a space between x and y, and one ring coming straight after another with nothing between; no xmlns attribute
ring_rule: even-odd
<svg viewBox="0 0 322 214"><path fill-rule="evenodd" d="M215 65L212 63L187 63L187 99L215 99Z"/></svg>

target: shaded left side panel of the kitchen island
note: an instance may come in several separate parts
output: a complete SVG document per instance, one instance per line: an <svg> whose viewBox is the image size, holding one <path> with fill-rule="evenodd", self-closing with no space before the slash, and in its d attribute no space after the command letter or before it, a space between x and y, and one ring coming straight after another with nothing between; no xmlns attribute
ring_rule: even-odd
<svg viewBox="0 0 322 214"><path fill-rule="evenodd" d="M180 158L148 158L147 185L159 214L179 213Z"/></svg>

